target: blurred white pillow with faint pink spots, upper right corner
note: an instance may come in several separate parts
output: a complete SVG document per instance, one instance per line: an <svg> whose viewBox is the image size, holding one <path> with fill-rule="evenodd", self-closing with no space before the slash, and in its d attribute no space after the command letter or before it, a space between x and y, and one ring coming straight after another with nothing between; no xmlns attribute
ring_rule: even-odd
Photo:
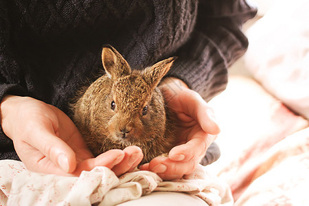
<svg viewBox="0 0 309 206"><path fill-rule="evenodd" d="M253 78L309 119L309 1L277 0L247 32Z"/></svg>

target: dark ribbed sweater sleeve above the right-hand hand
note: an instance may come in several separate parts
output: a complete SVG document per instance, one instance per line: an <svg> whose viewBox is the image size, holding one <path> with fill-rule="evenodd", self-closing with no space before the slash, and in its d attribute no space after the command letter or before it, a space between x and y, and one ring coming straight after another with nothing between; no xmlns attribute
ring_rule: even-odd
<svg viewBox="0 0 309 206"><path fill-rule="evenodd" d="M183 80L209 101L227 84L227 68L248 47L242 24L257 10L245 0L204 0L198 4L196 26L168 76Z"/></svg>

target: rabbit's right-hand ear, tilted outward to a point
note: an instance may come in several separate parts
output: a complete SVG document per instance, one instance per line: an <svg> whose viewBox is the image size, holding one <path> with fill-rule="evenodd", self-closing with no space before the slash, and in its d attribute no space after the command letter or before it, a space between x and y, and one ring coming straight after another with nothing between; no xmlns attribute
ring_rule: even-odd
<svg viewBox="0 0 309 206"><path fill-rule="evenodd" d="M174 60L176 60L176 56L161 60L160 62L157 62L157 64L148 67L143 71L144 80L150 85L150 87L152 87L152 89L155 89L163 76L168 73Z"/></svg>

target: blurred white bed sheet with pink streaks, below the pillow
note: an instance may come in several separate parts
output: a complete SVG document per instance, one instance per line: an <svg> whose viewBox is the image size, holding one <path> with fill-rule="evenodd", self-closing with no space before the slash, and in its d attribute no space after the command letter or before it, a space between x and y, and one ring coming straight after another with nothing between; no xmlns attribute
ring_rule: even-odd
<svg viewBox="0 0 309 206"><path fill-rule="evenodd" d="M221 157L209 169L231 187L235 205L309 205L308 120L240 76L209 104L221 128Z"/></svg>

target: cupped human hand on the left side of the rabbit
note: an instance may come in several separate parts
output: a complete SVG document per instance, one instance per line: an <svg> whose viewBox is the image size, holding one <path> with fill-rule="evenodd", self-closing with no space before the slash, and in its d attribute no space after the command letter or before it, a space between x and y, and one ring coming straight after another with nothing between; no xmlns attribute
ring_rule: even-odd
<svg viewBox="0 0 309 206"><path fill-rule="evenodd" d="M28 97L8 95L1 102L1 126L28 170L78 176L95 166L117 176L133 170L143 158L130 146L93 157L71 119L60 109Z"/></svg>

